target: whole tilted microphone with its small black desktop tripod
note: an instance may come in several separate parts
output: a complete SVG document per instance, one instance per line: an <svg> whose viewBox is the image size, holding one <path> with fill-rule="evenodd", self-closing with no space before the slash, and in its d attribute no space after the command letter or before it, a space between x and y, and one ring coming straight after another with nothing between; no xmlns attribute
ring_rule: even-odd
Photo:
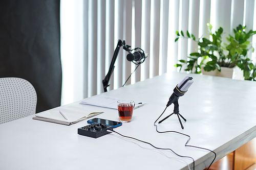
<svg viewBox="0 0 256 170"><path fill-rule="evenodd" d="M179 103L178 100L180 98L180 96L184 95L188 88L192 85L192 83L194 83L193 77L190 76L186 76L179 84L177 84L177 86L174 88L174 92L173 94L170 96L169 101L166 105L166 107L168 107L169 105L171 105L172 103L174 104L174 112L170 115L168 115L167 117L165 117L164 119L162 119L161 121L159 121L159 124L161 124L163 122L163 120L167 119L169 116L176 114L178 116L181 128L184 129L180 117L183 118L183 120L186 122L187 120L180 114L179 111Z"/></svg>

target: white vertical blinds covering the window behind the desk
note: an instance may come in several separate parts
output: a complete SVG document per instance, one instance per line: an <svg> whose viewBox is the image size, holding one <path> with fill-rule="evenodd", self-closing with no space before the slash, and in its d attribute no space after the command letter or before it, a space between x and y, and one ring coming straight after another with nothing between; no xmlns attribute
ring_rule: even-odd
<svg viewBox="0 0 256 170"><path fill-rule="evenodd" d="M62 105L103 92L119 39L148 54L129 85L177 71L177 61L197 50L190 40L174 42L177 30L196 37L209 37L207 23L213 31L222 27L224 37L239 24L255 30L254 0L61 0L60 11ZM120 48L108 91L121 87L134 71L126 55Z"/></svg>

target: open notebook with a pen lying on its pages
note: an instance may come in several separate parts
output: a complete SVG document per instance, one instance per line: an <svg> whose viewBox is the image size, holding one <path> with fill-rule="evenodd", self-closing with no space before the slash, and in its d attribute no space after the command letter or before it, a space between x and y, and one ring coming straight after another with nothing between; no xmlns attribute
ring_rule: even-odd
<svg viewBox="0 0 256 170"><path fill-rule="evenodd" d="M77 106L68 106L68 107L58 107L52 110L36 113L33 119L43 120L46 122L52 122L52 123L62 124L62 125L72 125L72 124L81 122L82 120L96 116L100 113L103 113L103 112L102 111L95 112L94 110L89 110L84 107L81 108Z"/></svg>

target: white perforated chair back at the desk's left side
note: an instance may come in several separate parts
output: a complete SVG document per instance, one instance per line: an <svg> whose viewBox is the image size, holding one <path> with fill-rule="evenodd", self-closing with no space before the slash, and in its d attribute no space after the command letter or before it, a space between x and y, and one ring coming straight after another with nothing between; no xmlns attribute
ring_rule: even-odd
<svg viewBox="0 0 256 170"><path fill-rule="evenodd" d="M35 114L37 95L21 78L0 78L0 124Z"/></svg>

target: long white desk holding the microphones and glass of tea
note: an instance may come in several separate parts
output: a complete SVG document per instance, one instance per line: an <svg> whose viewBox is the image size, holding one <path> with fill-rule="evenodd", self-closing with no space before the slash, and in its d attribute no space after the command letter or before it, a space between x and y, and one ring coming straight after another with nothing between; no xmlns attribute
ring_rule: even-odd
<svg viewBox="0 0 256 170"><path fill-rule="evenodd" d="M114 130L193 157L196 169L203 169L210 164L214 154L185 147L187 137L157 133L153 125L174 87L185 76L173 72L104 95L148 103L134 110L131 123ZM179 99L180 114L187 119L187 122L182 120L184 130L177 116L172 115L158 125L159 131L174 130L190 135L188 144L213 150L217 153L216 161L256 136L255 82L190 76L194 83ZM105 111L96 117L118 120L117 110L83 107ZM173 108L173 104L170 105L162 118L172 113ZM192 167L191 159L179 158L170 151L161 151L165 154L162 155L150 145L115 133L97 139L78 135L77 129L87 125L86 120L65 126L33 120L32 117L0 125L0 169L188 169L186 163Z"/></svg>

